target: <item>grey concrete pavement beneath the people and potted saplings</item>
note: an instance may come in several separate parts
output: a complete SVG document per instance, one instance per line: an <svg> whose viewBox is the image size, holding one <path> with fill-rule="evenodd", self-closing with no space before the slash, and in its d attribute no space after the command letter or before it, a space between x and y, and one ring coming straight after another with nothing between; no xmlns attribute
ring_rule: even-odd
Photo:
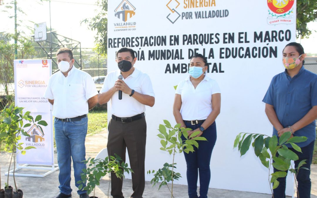
<svg viewBox="0 0 317 198"><path fill-rule="evenodd" d="M88 157L95 157L96 154L102 149L105 148L107 144L107 134L105 131L94 134L93 136L88 136L86 139L86 155ZM55 163L57 163L57 156L55 153ZM1 182L2 186L4 186L4 182L7 182L6 176L4 176L4 172L8 171L10 162L10 154L2 152L0 154L0 164L1 164ZM19 170L19 173L40 173L41 170ZM59 171L55 171L54 173L43 177L23 177L16 176L16 182L18 188L23 190L24 198L51 198L58 194L58 174ZM311 197L317 198L317 165L312 165L312 190ZM13 177L9 177L9 184L14 186ZM76 193L78 188L74 185L74 176L72 173L72 181L71 187L73 189L72 195L74 198L78 198L79 196ZM96 196L99 198L108 197L108 187L109 187L109 178L104 177L100 181L100 186L96 188ZM132 194L132 181L130 179L124 179L123 182L123 194L125 197L129 197ZM185 198L187 195L187 186L186 185L174 185L173 194L175 198ZM110 191L109 191L110 195ZM90 194L93 196L93 194ZM109 196L111 197L111 196ZM158 185L152 187L150 182L146 182L145 191L143 197L146 198L168 198L171 197L171 193L169 192L166 186L163 186L158 191ZM271 195L267 194L259 194L259 193L250 193L243 191L234 191L234 190L223 190L223 189L215 189L210 188L208 191L208 197L215 198L270 198Z"/></svg>

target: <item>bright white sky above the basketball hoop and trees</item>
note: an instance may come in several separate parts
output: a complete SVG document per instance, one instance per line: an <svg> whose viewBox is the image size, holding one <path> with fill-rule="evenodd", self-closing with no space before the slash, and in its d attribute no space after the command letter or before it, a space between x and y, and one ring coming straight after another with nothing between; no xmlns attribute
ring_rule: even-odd
<svg viewBox="0 0 317 198"><path fill-rule="evenodd" d="M4 0L4 3L10 0ZM34 23L46 22L49 27L49 2L40 2L39 0L17 0L20 7L26 15L19 15L18 19L23 19L25 25L34 27ZM66 3L70 2L70 3ZM96 31L91 31L86 24L81 21L86 18L92 18L96 15L98 7L94 0L51 0L51 22L52 29L57 33L76 41L81 42L82 48L94 48L94 35ZM0 6L0 10L3 7ZM8 13L0 12L0 32L14 32L14 18L9 19ZM12 9L11 16L14 16ZM308 23L311 30L317 31L317 22ZM24 29L26 35L30 35L31 31ZM313 32L309 39L297 39L304 47L306 53L317 54L317 32Z"/></svg>

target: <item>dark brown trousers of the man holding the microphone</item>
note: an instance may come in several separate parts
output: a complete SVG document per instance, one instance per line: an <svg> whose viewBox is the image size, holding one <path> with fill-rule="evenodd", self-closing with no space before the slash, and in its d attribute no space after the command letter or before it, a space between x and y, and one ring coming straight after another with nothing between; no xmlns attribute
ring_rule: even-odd
<svg viewBox="0 0 317 198"><path fill-rule="evenodd" d="M145 118L133 122L122 123L111 119L108 126L108 155L117 154L126 161L126 149L130 159L132 173L133 198L142 198L145 187L145 145L146 145L146 121ZM130 173L131 174L131 173ZM111 195L114 198L123 198L123 179L111 174Z"/></svg>

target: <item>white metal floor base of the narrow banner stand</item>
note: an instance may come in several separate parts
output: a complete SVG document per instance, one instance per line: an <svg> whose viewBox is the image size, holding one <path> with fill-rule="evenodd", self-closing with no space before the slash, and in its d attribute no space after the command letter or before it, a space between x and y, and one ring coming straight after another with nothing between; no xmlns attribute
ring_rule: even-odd
<svg viewBox="0 0 317 198"><path fill-rule="evenodd" d="M43 167L43 166L47 166L47 167ZM30 166L30 164L24 164L22 166L19 166L19 164L16 164L16 169L14 170L14 176L25 176L25 177L45 177L53 172L55 172L56 170L59 169L58 164L54 164L52 166L49 165L41 165L41 167L39 166ZM16 171L20 170L20 169L37 169L37 170L49 170L48 172L44 173L44 174L26 174L26 173L16 173ZM8 175L8 172L5 173L5 175ZM9 172L10 176L13 176L13 170L10 170Z"/></svg>

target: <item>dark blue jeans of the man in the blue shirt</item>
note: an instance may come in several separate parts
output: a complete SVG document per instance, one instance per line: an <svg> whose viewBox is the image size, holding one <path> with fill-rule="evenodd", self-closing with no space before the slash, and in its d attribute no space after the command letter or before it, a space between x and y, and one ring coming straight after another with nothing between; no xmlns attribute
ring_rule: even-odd
<svg viewBox="0 0 317 198"><path fill-rule="evenodd" d="M313 158L313 151L314 151L314 143L315 141L311 142L305 147L301 148L301 152L294 150L293 148L288 148L292 150L296 155L298 155L298 160L294 161L295 169L297 168L298 164L306 159L306 164L301 167L306 167L306 169L299 169L296 180L298 182L297 188L297 197L300 198L309 198L310 197L310 188L312 183L310 182L310 164L312 163ZM274 168L274 172L279 171ZM277 188L273 190L274 198L285 198L285 188L286 188L286 177L281 177L277 179L280 184Z"/></svg>

